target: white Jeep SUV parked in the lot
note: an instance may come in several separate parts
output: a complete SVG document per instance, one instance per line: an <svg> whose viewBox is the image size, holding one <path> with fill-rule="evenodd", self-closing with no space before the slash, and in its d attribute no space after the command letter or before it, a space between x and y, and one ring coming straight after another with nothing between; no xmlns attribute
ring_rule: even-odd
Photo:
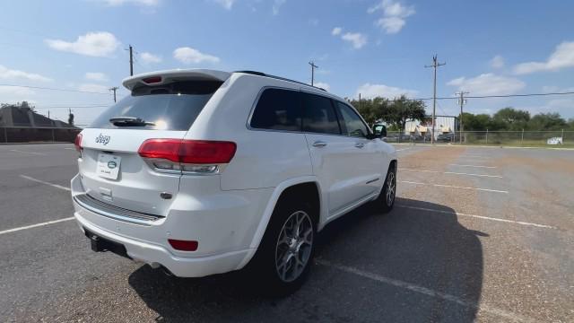
<svg viewBox="0 0 574 323"><path fill-rule="evenodd" d="M199 277L249 266L291 288L316 235L395 202L396 152L349 103L258 72L126 78L131 95L76 138L74 216L95 251Z"/></svg>

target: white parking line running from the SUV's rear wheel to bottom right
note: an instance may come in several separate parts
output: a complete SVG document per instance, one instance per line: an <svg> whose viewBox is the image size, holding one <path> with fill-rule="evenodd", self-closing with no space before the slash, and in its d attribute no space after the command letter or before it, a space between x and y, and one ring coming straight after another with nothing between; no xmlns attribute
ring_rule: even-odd
<svg viewBox="0 0 574 323"><path fill-rule="evenodd" d="M368 279L377 281L378 283L389 284L389 285L392 285L392 286L395 286L398 288L403 288L403 289L408 290L410 292L418 292L420 294L431 296L431 297L441 299L444 301L454 302L454 303L457 303L458 305L462 305L462 306L465 306L467 308L472 308L472 309L476 309L479 311L484 311L484 312L494 314L494 315L502 317L502 318L510 319L513 321L535 322L534 319L527 318L527 317L524 317L522 315L518 315L518 314L513 313L511 311L508 311L508 310L502 310L502 309L495 308L495 307L492 307L492 306L486 305L486 304L478 304L475 301L467 301L467 300L459 298L455 295L451 295L451 294L444 293L444 292L434 291L434 290L431 290L430 288L422 287L422 286L417 285L417 284L411 284L411 283L407 283L407 282L400 281L397 279L389 278L389 277L386 277L384 275L378 275L378 274L370 273L370 272L363 271L363 270L358 269L358 268L354 268L352 266L344 266L344 265L335 264L335 263L332 263L332 262L325 260L325 259L322 259L322 258L318 258L315 261L319 265L333 267L335 269L338 269L338 270L343 271L343 272L348 273L348 274L359 275L363 278L368 278Z"/></svg>

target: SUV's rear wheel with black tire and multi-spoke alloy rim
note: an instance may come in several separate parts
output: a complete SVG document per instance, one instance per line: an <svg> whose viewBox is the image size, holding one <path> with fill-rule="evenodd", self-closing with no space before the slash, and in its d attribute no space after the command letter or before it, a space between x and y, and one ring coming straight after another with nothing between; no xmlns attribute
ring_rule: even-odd
<svg viewBox="0 0 574 323"><path fill-rule="evenodd" d="M263 292L283 296L300 288L315 253L316 224L311 205L284 198L275 206L265 235L251 263Z"/></svg>

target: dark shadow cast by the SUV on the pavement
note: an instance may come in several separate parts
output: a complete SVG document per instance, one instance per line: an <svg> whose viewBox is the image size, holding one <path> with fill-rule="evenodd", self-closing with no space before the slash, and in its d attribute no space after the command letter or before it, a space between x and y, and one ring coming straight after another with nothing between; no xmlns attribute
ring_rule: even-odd
<svg viewBox="0 0 574 323"><path fill-rule="evenodd" d="M141 266L129 284L162 322L472 322L483 284L477 236L488 234L447 206L397 197L389 214L367 205L328 224L309 280L284 298L254 292L259 282L241 272L184 279Z"/></svg>

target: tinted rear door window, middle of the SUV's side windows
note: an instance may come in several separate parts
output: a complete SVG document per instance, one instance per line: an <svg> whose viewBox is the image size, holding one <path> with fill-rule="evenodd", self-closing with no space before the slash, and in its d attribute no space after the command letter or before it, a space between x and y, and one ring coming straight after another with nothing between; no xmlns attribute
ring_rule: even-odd
<svg viewBox="0 0 574 323"><path fill-rule="evenodd" d="M301 93L301 104L303 106L303 131L341 135L331 99Z"/></svg>

